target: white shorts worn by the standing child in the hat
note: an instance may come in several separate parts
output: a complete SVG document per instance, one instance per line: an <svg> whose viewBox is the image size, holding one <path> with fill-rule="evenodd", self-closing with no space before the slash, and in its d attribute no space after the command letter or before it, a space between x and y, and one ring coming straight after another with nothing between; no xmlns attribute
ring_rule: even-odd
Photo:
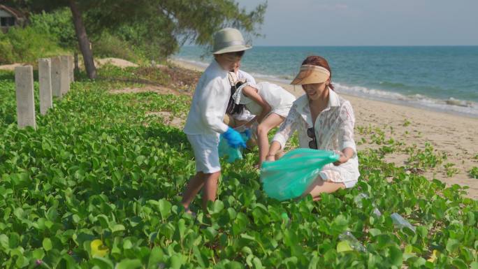
<svg viewBox="0 0 478 269"><path fill-rule="evenodd" d="M221 170L219 163L219 133L215 135L187 135L196 159L196 172L212 174Z"/></svg>

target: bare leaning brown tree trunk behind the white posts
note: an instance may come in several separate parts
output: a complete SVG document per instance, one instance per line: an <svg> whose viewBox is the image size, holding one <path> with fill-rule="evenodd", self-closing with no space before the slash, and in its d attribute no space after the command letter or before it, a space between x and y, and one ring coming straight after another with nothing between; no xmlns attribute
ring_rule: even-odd
<svg viewBox="0 0 478 269"><path fill-rule="evenodd" d="M73 15L73 24L75 24L76 37L78 38L78 45L80 45L83 61L85 62L85 69L88 78L94 80L96 78L96 68L94 67L93 53L89 48L89 40L86 34L85 25L81 18L81 11L76 6L75 0L69 0L71 14Z"/></svg>

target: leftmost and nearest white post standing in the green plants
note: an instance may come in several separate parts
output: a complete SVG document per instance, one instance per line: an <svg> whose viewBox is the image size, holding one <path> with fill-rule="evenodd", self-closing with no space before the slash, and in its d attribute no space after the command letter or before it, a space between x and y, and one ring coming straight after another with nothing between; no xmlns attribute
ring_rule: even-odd
<svg viewBox="0 0 478 269"><path fill-rule="evenodd" d="M17 94L18 128L31 126L36 129L33 67L15 67L15 90Z"/></svg>

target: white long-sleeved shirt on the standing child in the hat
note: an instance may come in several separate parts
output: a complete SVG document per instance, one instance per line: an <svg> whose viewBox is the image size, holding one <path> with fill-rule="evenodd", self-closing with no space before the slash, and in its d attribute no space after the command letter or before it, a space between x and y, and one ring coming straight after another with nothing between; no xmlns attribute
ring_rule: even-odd
<svg viewBox="0 0 478 269"><path fill-rule="evenodd" d="M223 120L230 96L231 82L228 71L213 60L196 85L184 133L189 135L225 133L229 127Z"/></svg>

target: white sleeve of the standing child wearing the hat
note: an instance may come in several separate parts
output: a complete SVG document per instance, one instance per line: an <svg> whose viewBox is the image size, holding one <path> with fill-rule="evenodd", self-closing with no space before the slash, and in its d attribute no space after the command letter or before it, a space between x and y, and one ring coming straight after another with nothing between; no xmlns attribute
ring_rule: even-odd
<svg viewBox="0 0 478 269"><path fill-rule="evenodd" d="M225 133L229 126L224 123L224 103L229 101L230 89L224 89L219 78L206 83L198 102L203 122L217 133Z"/></svg>

